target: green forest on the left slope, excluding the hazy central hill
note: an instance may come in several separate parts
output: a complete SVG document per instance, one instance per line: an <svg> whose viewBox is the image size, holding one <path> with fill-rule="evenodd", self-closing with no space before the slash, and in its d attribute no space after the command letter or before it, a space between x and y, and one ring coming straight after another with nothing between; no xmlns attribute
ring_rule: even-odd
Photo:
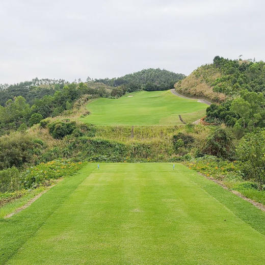
<svg viewBox="0 0 265 265"><path fill-rule="evenodd" d="M23 96L14 96L8 99L4 106L0 105L0 135L16 129L25 130L42 119L69 111L73 103L83 95L87 95L87 98L110 96L104 84L91 84L88 87L87 83L82 82L79 84L62 82L45 87L43 85L36 87L32 82L24 82L0 92L3 98L16 93L21 93Z"/></svg>

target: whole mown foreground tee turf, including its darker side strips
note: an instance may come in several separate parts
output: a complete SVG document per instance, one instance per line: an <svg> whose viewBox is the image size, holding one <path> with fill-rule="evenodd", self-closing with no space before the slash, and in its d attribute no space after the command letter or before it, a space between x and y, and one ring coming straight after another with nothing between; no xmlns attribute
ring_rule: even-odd
<svg viewBox="0 0 265 265"><path fill-rule="evenodd" d="M183 165L87 164L0 220L0 264L265 264L265 213Z"/></svg>

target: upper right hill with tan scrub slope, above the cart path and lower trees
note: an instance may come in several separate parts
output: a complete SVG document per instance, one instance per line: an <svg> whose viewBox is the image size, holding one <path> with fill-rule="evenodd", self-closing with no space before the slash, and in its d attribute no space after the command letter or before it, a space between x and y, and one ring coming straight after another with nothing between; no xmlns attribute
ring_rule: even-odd
<svg viewBox="0 0 265 265"><path fill-rule="evenodd" d="M229 60L216 56L213 64L203 65L175 84L178 92L223 102L241 91L265 91L265 63Z"/></svg>

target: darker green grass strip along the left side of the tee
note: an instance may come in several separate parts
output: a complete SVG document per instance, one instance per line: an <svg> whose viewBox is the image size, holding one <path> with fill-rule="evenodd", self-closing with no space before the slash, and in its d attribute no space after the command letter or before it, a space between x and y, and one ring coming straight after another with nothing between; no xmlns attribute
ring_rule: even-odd
<svg viewBox="0 0 265 265"><path fill-rule="evenodd" d="M81 169L77 174L65 178L51 188L30 207L9 219L0 219L0 264L4 264L30 237L35 235L93 169L96 169L96 165L86 166L85 169Z"/></svg>

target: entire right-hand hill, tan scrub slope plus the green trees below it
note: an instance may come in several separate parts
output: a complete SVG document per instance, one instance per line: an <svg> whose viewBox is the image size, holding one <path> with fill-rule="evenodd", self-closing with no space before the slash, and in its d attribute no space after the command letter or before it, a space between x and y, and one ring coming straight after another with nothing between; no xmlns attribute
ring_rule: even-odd
<svg viewBox="0 0 265 265"><path fill-rule="evenodd" d="M265 63L216 56L175 85L178 92L221 104L207 109L207 122L225 123L243 133L265 127Z"/></svg>

